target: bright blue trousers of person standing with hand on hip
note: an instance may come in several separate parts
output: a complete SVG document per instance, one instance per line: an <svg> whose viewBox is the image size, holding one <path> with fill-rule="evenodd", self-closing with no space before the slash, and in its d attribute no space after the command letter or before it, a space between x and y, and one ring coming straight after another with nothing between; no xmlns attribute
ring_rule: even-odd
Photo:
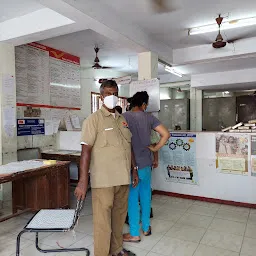
<svg viewBox="0 0 256 256"><path fill-rule="evenodd" d="M151 210L151 167L138 170L139 184L136 188L130 185L128 199L128 215L131 236L140 235L140 207L142 230L147 232L150 227ZM139 207L140 202L140 207Z"/></svg>

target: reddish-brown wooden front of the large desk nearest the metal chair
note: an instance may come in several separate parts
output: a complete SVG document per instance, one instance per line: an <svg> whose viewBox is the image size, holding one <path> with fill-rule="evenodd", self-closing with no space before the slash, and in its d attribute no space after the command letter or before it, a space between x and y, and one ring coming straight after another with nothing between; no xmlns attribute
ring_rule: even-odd
<svg viewBox="0 0 256 256"><path fill-rule="evenodd" d="M42 161L42 160L38 160ZM13 214L0 222L18 215L18 210L69 208L69 164L57 162L35 169L0 175L0 184L12 182Z"/></svg>

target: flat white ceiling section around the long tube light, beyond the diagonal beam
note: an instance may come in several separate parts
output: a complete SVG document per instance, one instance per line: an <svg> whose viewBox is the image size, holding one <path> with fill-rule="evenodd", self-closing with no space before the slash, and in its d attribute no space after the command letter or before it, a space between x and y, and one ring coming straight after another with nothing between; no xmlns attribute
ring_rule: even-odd
<svg viewBox="0 0 256 256"><path fill-rule="evenodd" d="M76 0L83 1L83 0ZM123 18L144 28L172 48L184 48L213 42L216 33L188 36L188 29L215 23L221 13L229 19L256 16L255 0L167 0L175 11L154 14L148 0L100 0L111 6ZM136 8L135 8L136 6ZM256 26L226 31L223 36L229 40L256 36Z"/></svg>

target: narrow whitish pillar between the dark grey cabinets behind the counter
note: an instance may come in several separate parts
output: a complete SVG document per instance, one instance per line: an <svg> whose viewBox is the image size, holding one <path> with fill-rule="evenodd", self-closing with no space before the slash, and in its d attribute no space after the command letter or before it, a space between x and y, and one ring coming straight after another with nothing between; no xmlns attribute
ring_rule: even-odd
<svg viewBox="0 0 256 256"><path fill-rule="evenodd" d="M191 81L192 82L192 81ZM202 101L203 93L202 90L196 88L190 88L190 130L191 131L202 131Z"/></svg>

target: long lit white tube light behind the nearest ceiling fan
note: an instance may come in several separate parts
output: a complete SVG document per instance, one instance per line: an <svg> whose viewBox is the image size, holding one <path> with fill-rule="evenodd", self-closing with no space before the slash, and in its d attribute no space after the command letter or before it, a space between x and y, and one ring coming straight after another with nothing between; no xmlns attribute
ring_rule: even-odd
<svg viewBox="0 0 256 256"><path fill-rule="evenodd" d="M246 18L246 19L240 19L240 20L231 20L223 22L221 25L221 30L227 30L232 28L241 28L241 27L247 27L256 25L256 17ZM189 35L198 35L198 34L204 34L209 32L218 31L219 27L215 24L210 24L206 26L191 28L188 30Z"/></svg>

